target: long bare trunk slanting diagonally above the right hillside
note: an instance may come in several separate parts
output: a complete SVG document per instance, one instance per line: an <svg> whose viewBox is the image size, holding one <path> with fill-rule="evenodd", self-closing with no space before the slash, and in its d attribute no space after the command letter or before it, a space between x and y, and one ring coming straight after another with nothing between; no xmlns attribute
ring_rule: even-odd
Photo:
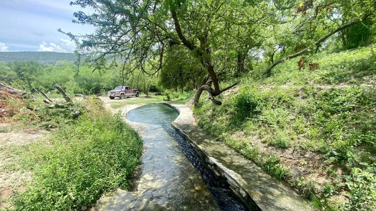
<svg viewBox="0 0 376 211"><path fill-rule="evenodd" d="M343 24L342 26L338 27L337 29L335 29L334 31L332 32L329 32L327 33L326 35L322 36L320 39L318 39L316 42L315 42L315 46L316 48L320 47L321 43L324 42L327 38L329 38L330 36L334 35L335 33L341 31L341 30L344 30L350 26L353 26L357 23L360 23L362 20L366 20L368 17L370 17L371 13L367 13L365 14L361 19L358 19L358 20L352 20L350 22L347 22L345 24ZM264 73L263 74L268 74L271 69L273 69L275 66L277 66L279 63L282 63L284 62L285 60L288 60L288 59L292 59L292 58L295 58L297 56L300 56L304 53L307 53L309 50L309 48L304 48L302 51L299 51L295 54L292 54L292 55L288 55L286 56L284 59L280 59L276 62L274 62L273 64L271 64L267 69L265 69Z"/></svg>

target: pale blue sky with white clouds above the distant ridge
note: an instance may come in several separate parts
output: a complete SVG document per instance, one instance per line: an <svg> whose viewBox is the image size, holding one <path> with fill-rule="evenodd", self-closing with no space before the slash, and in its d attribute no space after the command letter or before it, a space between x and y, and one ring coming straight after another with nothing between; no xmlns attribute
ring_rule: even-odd
<svg viewBox="0 0 376 211"><path fill-rule="evenodd" d="M0 51L73 52L67 35L94 31L92 26L73 24L73 12L91 13L91 8L70 6L71 0L0 0Z"/></svg>

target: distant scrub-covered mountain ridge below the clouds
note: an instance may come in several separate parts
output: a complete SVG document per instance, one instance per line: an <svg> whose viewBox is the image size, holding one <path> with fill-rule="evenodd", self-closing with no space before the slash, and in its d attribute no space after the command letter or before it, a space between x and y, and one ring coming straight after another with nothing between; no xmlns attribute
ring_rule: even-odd
<svg viewBox="0 0 376 211"><path fill-rule="evenodd" d="M59 53L49 51L17 51L17 52L0 52L0 61L27 61L36 60L40 63L55 65L59 61L76 61L74 53Z"/></svg>

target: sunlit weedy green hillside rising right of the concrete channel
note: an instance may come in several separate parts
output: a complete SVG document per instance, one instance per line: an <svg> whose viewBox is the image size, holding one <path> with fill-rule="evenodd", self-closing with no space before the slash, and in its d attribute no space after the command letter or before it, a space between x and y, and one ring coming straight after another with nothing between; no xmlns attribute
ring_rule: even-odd
<svg viewBox="0 0 376 211"><path fill-rule="evenodd" d="M376 45L264 66L202 96L200 127L324 210L376 208ZM311 63L311 68L309 68ZM223 84L226 86L227 84Z"/></svg>

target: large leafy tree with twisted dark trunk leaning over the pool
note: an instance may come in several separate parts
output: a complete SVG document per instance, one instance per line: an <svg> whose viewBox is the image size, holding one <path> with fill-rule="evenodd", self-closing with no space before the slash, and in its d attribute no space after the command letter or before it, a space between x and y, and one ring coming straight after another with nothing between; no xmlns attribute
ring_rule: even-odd
<svg viewBox="0 0 376 211"><path fill-rule="evenodd" d="M219 77L229 70L228 64L235 63L237 73L247 71L249 50L260 45L262 27L275 18L270 15L275 13L270 1L76 0L71 4L94 8L93 14L75 12L74 22L93 25L96 32L67 35L77 41L77 53L89 55L97 69L111 60L123 62L124 68L141 69L149 77L158 75L166 51L182 46L208 74L195 101L206 90L218 105L215 96L237 84L221 88Z"/></svg>

